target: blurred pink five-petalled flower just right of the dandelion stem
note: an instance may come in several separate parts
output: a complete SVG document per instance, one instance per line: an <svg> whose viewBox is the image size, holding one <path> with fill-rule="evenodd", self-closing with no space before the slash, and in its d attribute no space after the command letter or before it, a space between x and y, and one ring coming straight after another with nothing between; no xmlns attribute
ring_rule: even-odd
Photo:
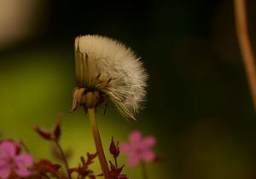
<svg viewBox="0 0 256 179"><path fill-rule="evenodd" d="M154 136L146 136L142 139L141 132L135 130L129 135L129 141L130 143L120 144L120 153L128 155L128 166L133 167L140 161L152 162L155 159L155 154L150 149L156 143Z"/></svg>

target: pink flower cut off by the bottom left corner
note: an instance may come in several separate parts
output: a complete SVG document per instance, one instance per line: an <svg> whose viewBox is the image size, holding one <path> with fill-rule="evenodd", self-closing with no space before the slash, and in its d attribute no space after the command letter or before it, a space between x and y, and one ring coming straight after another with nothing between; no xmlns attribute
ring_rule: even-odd
<svg viewBox="0 0 256 179"><path fill-rule="evenodd" d="M17 144L14 141L2 141L0 144L0 178L7 179L11 172L17 176L31 176L33 158L28 153L19 153Z"/></svg>

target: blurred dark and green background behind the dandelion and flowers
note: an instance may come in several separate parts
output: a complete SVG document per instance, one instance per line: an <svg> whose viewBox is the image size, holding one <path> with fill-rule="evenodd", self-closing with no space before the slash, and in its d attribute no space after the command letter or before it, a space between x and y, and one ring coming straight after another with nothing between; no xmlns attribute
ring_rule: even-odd
<svg viewBox="0 0 256 179"><path fill-rule="evenodd" d="M255 7L247 1L255 49ZM148 101L131 124L110 105L97 115L105 150L111 136L154 135L164 160L150 179L256 178L256 120L236 40L231 0L0 0L0 135L22 139L36 159L49 143L32 127L51 129L63 113L62 145L94 153L82 110L68 113L75 87L73 39L100 34L131 46L150 78ZM255 49L256 50L256 49ZM110 159L110 156L108 156ZM125 157L121 157L125 162ZM98 163L91 165L100 172ZM139 167L125 168L139 179Z"/></svg>

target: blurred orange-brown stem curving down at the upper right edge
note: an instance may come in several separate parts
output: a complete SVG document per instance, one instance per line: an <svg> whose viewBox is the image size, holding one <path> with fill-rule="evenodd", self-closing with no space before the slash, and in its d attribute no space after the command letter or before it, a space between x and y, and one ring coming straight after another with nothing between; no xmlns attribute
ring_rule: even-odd
<svg viewBox="0 0 256 179"><path fill-rule="evenodd" d="M247 73L247 81L253 98L254 111L256 112L256 66L252 44L248 35L246 0L234 0L234 7L237 38Z"/></svg>

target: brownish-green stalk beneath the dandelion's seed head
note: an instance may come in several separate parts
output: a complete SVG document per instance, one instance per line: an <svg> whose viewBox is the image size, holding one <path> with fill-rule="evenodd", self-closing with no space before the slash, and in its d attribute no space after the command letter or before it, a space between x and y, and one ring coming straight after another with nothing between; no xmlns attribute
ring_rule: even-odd
<svg viewBox="0 0 256 179"><path fill-rule="evenodd" d="M103 147L102 147L101 136L100 136L98 126L96 123L95 107L88 108L88 115L89 115L90 124L92 127L92 133L93 133L93 138L94 138L94 142L96 145L96 151L98 153L98 159L102 166L103 176L105 177L105 179L111 179L111 176L110 176L109 170L108 170L107 160L106 160L106 157L105 157L105 154L103 151Z"/></svg>

